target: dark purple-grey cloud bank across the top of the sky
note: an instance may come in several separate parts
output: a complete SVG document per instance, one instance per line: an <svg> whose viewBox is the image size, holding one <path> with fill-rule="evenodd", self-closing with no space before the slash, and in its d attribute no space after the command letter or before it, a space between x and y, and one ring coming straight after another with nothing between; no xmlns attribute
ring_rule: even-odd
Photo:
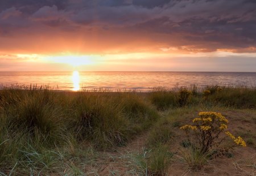
<svg viewBox="0 0 256 176"><path fill-rule="evenodd" d="M254 0L0 2L0 37L15 34L18 38L24 32L55 36L58 30L61 35L65 31L70 36L74 34L87 40L99 40L99 36L110 35L125 38L122 41L125 43L139 37L147 44L155 43L155 49L247 51L256 46L256 4ZM89 36L91 33L94 38ZM131 36L129 40L122 37L128 34ZM133 51L132 47L126 50ZM134 50L139 47L147 48L134 46ZM254 49L250 51L254 52Z"/></svg>

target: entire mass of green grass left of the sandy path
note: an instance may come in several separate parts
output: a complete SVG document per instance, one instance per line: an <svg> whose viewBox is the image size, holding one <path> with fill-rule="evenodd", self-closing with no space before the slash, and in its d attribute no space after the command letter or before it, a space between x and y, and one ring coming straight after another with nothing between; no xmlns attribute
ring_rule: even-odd
<svg viewBox="0 0 256 176"><path fill-rule="evenodd" d="M73 160L80 145L111 150L158 118L154 106L136 92L6 88L0 90L0 170L58 173L57 167L63 168L69 157ZM80 169L68 168L78 174Z"/></svg>

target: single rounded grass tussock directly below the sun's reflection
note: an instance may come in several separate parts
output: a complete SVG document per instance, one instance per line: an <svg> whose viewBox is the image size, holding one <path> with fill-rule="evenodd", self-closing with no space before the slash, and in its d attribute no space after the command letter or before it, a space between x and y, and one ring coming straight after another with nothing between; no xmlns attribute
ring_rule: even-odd
<svg viewBox="0 0 256 176"><path fill-rule="evenodd" d="M73 130L78 139L93 141L96 148L123 145L127 140L128 121L121 107L108 96L81 93L72 104Z"/></svg>

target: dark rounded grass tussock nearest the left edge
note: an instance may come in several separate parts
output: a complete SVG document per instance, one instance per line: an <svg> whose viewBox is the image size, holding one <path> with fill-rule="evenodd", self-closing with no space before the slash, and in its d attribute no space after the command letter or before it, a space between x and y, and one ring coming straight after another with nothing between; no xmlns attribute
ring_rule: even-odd
<svg viewBox="0 0 256 176"><path fill-rule="evenodd" d="M25 132L32 143L55 145L65 141L64 114L50 94L47 91L27 92L22 100L5 111L9 128Z"/></svg>

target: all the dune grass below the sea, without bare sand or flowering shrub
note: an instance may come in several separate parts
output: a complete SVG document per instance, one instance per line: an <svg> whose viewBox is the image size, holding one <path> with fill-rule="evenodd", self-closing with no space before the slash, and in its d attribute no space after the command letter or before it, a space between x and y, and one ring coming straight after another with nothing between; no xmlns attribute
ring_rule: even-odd
<svg viewBox="0 0 256 176"><path fill-rule="evenodd" d="M7 87L0 90L0 175L83 175L96 165L97 151L115 151L144 131L147 154L135 156L141 158L140 173L168 173L173 156L198 169L208 158L188 148L173 150L185 141L179 127L201 110L255 107L256 91L245 87L193 85L149 93ZM255 148L256 134L241 131L236 132Z"/></svg>

